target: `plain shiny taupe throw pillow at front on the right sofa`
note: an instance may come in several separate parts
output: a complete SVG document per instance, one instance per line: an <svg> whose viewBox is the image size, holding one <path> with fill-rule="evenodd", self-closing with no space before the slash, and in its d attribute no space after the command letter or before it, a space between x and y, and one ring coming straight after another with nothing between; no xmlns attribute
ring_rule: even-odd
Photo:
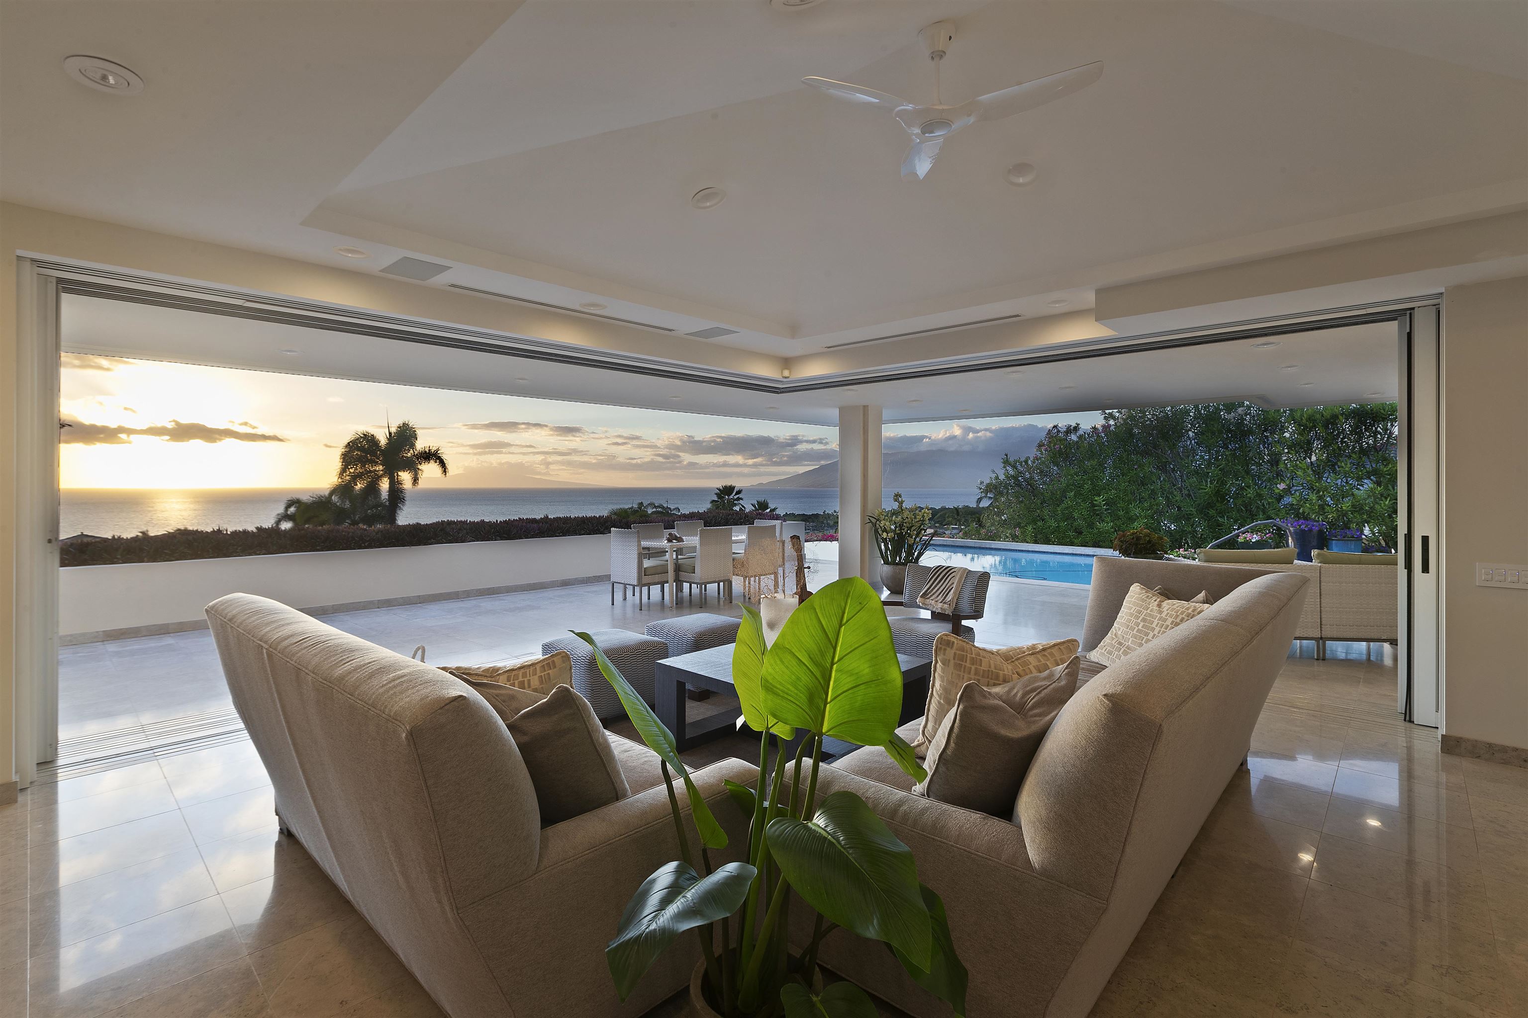
<svg viewBox="0 0 1528 1018"><path fill-rule="evenodd" d="M1041 740L1077 691L1079 665L1073 656L1007 685L963 685L929 745L929 777L912 794L1010 817Z"/></svg>

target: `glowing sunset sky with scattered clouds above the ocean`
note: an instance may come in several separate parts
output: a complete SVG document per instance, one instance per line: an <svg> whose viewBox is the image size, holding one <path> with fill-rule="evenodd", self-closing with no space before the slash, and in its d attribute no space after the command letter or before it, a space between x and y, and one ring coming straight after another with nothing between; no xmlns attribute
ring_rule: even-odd
<svg viewBox="0 0 1528 1018"><path fill-rule="evenodd" d="M322 488L358 429L410 420L449 487L758 482L837 459L833 427L64 354L66 488ZM1067 420L1091 423L1096 414ZM888 449L998 449L1051 418L898 424Z"/></svg>

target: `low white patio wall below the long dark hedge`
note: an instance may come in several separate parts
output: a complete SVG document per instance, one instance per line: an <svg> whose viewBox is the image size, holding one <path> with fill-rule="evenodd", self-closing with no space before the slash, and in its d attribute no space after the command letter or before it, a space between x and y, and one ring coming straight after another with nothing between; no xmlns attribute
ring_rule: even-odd
<svg viewBox="0 0 1528 1018"><path fill-rule="evenodd" d="M60 644L205 629L225 594L260 594L312 615L507 594L610 577L610 536L138 562L58 571Z"/></svg>

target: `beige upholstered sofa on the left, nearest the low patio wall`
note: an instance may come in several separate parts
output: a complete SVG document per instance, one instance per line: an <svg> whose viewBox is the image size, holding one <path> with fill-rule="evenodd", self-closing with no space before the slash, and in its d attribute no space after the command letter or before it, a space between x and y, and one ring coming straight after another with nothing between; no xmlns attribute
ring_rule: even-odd
<svg viewBox="0 0 1528 1018"><path fill-rule="evenodd" d="M625 1004L605 968L626 900L677 858L645 746L611 737L630 798L542 829L515 742L463 682L266 598L206 617L283 827L446 1013L634 1018L686 984L692 937ZM747 832L723 778L755 775L740 760L694 772L733 846Z"/></svg>

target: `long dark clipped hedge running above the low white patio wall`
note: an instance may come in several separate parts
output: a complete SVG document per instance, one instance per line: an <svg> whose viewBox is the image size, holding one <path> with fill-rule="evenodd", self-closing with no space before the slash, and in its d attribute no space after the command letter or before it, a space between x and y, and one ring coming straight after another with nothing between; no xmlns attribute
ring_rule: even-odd
<svg viewBox="0 0 1528 1018"><path fill-rule="evenodd" d="M60 548L63 566L105 566L128 562L185 562L186 559L240 559L284 556L299 551L354 551L359 548L417 548L460 545L474 540L524 540L527 537L584 537L626 530L633 522L662 522L614 516L542 516L539 519L446 519L435 523L396 527L257 527L255 530L173 530L165 534L102 537ZM778 519L772 513L683 513L677 519L700 519L706 527L743 527L755 519Z"/></svg>

